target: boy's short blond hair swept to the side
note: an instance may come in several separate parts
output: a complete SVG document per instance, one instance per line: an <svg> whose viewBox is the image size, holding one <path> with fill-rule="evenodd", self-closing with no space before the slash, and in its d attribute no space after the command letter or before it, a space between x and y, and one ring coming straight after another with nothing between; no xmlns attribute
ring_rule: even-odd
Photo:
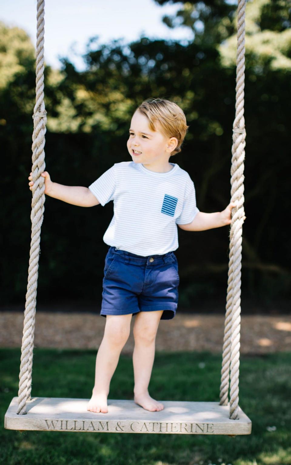
<svg viewBox="0 0 291 465"><path fill-rule="evenodd" d="M186 124L186 117L180 106L166 99L146 99L135 111L137 110L147 117L151 131L156 131L155 124L158 122L164 137L176 137L178 145L171 152L170 157L181 152L189 126Z"/></svg>

